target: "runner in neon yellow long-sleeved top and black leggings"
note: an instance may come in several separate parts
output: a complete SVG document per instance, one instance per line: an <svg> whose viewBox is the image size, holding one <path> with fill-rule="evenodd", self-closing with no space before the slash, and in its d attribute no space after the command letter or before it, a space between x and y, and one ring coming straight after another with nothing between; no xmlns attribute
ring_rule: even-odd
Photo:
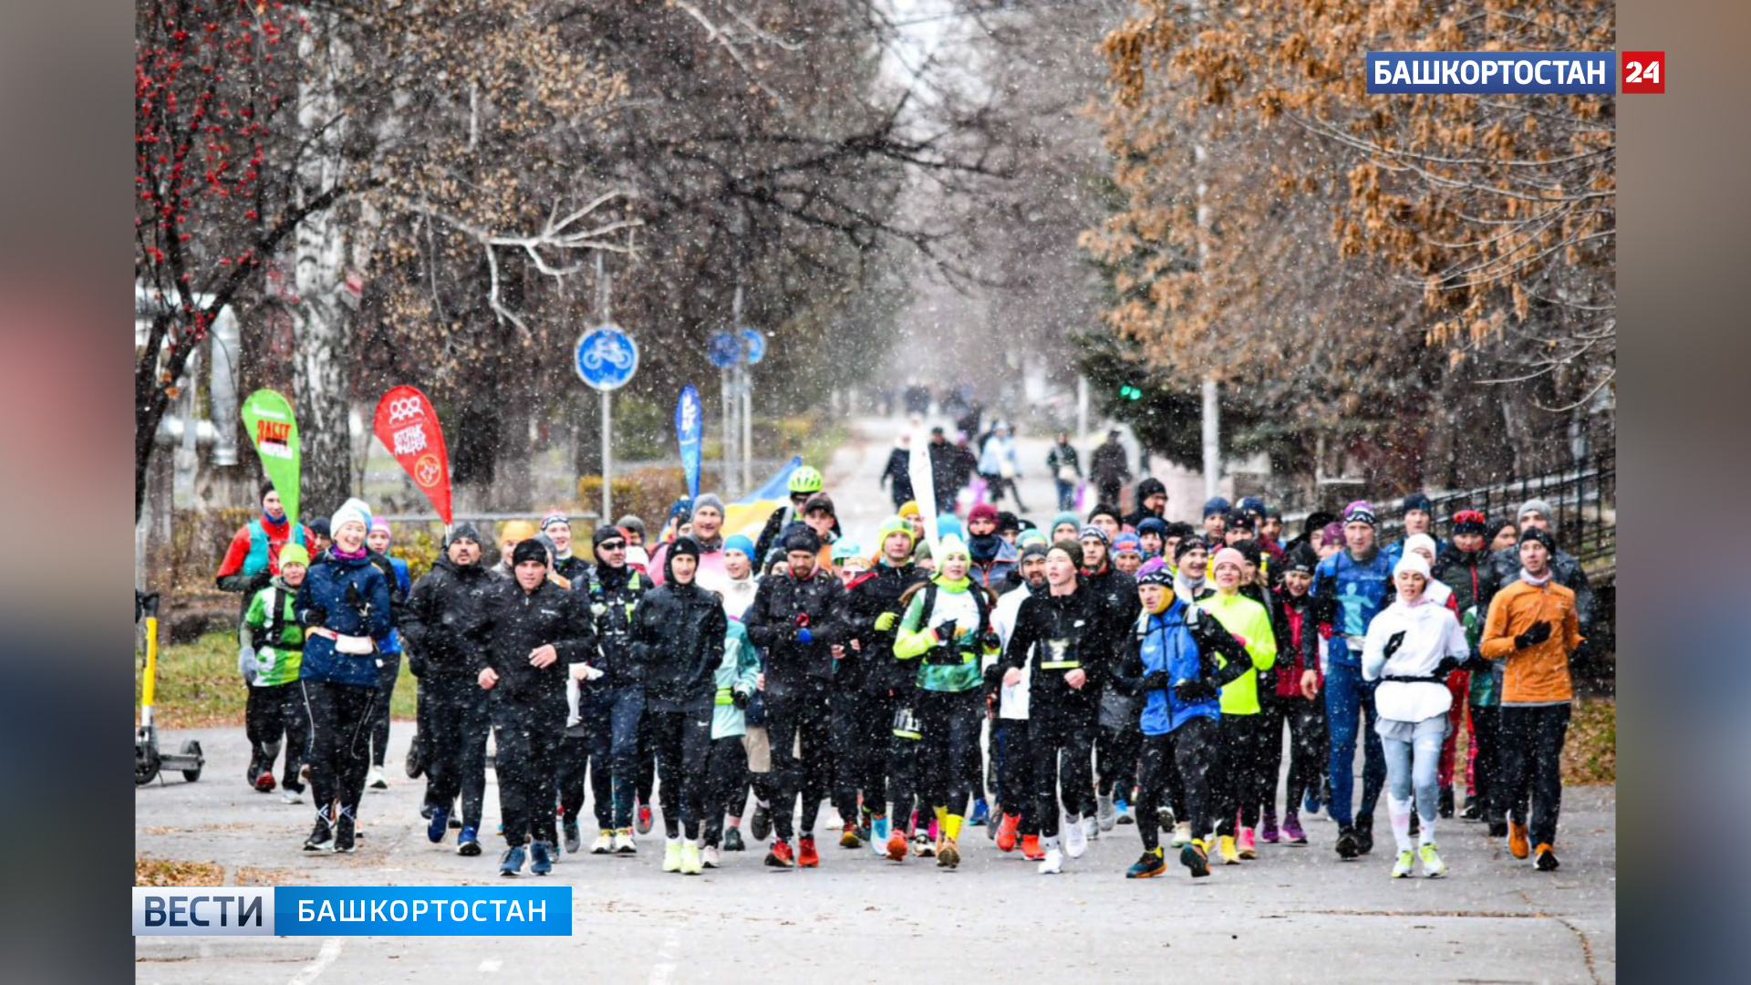
<svg viewBox="0 0 1751 985"><path fill-rule="evenodd" d="M1215 617L1224 629L1240 640L1252 657L1254 670L1276 666L1276 634L1271 615L1257 601L1240 594L1245 557L1233 547L1215 552L1215 594L1198 605ZM1259 826L1259 804L1269 796L1264 776L1264 740L1268 726L1259 713L1259 675L1243 673L1222 687L1222 717L1217 722L1217 748L1220 761L1210 799L1215 803L1217 850L1222 864L1234 866L1241 859L1257 859L1252 829ZM1240 838L1234 838L1234 815L1240 815ZM1205 834L1198 831L1194 834Z"/></svg>

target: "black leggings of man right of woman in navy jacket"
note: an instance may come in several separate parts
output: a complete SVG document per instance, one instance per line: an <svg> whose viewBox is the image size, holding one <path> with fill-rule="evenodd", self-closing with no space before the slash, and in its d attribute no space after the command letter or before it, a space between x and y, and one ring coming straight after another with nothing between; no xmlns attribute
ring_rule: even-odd
<svg viewBox="0 0 1751 985"><path fill-rule="evenodd" d="M425 743L425 803L452 810L462 797L462 824L480 831L487 799L489 692L462 673L420 678L420 741Z"/></svg>

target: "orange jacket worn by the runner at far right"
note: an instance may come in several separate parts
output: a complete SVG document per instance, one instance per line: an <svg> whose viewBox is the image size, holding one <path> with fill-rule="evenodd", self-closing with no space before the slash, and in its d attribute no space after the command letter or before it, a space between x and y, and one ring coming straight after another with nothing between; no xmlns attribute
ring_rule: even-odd
<svg viewBox="0 0 1751 985"><path fill-rule="evenodd" d="M1515 647L1515 636L1546 620L1551 627L1548 640L1525 650ZM1485 659L1508 661L1502 703L1532 705L1574 699L1569 654L1579 645L1581 622L1574 610L1574 592L1555 580L1532 585L1516 578L1490 601L1478 650Z"/></svg>

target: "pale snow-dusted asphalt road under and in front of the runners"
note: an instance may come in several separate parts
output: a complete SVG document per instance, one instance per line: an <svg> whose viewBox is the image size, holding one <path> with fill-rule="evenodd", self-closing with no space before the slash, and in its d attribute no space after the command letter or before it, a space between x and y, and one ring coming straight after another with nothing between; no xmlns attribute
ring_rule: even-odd
<svg viewBox="0 0 1751 985"><path fill-rule="evenodd" d="M891 436L844 449L828 487L860 529L881 507L874 475ZM1026 452L1024 452L1026 454ZM1044 450L1040 452L1044 456ZM874 463L874 464L870 464ZM1045 484L1044 468L1040 477ZM1037 510L1051 501L1033 501ZM853 507L853 503L858 503ZM1177 503L1178 505L1178 503ZM849 507L849 510L846 508ZM868 519L865 514L872 515ZM1177 512L1170 507L1170 515ZM1040 517L1040 514L1035 514ZM1045 517L1040 517L1045 519ZM489 773L487 854L425 840L422 783L399 768L411 726L392 729L390 782L361 806L354 855L299 850L312 808L280 804L243 782L242 727L170 733L201 740L205 776L135 792L135 852L210 861L231 883L497 883L497 792ZM588 811L587 811L588 817ZM823 810L823 822L833 822ZM942 976L1044 981L1098 974L1136 981L1609 981L1616 978L1616 790L1565 792L1557 873L1508 857L1476 824L1443 822L1450 875L1390 880L1390 833L1373 855L1341 862L1324 815L1303 818L1311 845L1261 845L1196 883L1126 880L1142 847L1117 827L1059 876L963 836L958 871L895 864L837 847L819 831L814 871L765 869L762 852L725 854L704 876L658 869L660 838L636 857L567 855L552 882L574 887L571 938L138 938L138 981L874 981ZM658 822L660 831L660 822ZM587 838L594 834L587 827ZM525 876L527 878L527 876Z"/></svg>

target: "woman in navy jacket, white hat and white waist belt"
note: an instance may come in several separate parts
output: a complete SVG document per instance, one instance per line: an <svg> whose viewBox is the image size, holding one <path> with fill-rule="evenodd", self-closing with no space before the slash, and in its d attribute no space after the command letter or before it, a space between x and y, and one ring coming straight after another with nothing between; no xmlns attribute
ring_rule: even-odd
<svg viewBox="0 0 1751 985"><path fill-rule="evenodd" d="M334 543L298 589L298 622L306 629L298 680L310 719L310 790L315 827L305 850L333 845L352 852L359 797L371 764L371 710L376 654L389 638L389 580L364 547L369 508L347 500L329 517Z"/></svg>

